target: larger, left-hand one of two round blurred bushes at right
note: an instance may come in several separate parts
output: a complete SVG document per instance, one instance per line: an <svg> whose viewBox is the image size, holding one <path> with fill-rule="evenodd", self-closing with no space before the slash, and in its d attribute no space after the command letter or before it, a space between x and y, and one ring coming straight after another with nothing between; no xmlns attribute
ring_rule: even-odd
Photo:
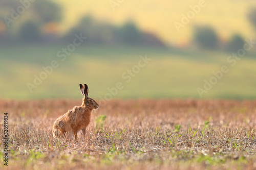
<svg viewBox="0 0 256 170"><path fill-rule="evenodd" d="M215 30L209 26L195 27L194 42L202 48L216 49L219 38Z"/></svg>

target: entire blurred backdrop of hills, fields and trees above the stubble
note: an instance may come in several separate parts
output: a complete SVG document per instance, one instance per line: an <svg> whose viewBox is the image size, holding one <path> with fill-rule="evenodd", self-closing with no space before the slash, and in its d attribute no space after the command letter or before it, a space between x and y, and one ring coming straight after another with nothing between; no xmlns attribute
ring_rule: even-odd
<svg viewBox="0 0 256 170"><path fill-rule="evenodd" d="M252 0L0 0L0 18L1 99L256 99Z"/></svg>

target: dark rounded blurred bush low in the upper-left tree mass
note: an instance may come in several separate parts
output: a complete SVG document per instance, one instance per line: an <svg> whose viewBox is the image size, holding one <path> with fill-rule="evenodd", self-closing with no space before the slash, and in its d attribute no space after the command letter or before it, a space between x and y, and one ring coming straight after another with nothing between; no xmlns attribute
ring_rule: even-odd
<svg viewBox="0 0 256 170"><path fill-rule="evenodd" d="M25 42L36 42L40 40L38 24L34 21L25 22L20 29L20 40Z"/></svg>

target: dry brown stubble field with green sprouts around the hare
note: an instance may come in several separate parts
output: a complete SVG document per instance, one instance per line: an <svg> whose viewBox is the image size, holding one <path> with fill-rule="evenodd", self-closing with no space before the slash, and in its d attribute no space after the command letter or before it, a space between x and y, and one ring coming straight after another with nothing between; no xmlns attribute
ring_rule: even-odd
<svg viewBox="0 0 256 170"><path fill-rule="evenodd" d="M75 105L80 100L0 101L10 136L8 167L0 168L256 168L256 101L111 101L94 114L86 142L81 133L77 143L55 141L54 120ZM3 121L0 131L2 159Z"/></svg>

